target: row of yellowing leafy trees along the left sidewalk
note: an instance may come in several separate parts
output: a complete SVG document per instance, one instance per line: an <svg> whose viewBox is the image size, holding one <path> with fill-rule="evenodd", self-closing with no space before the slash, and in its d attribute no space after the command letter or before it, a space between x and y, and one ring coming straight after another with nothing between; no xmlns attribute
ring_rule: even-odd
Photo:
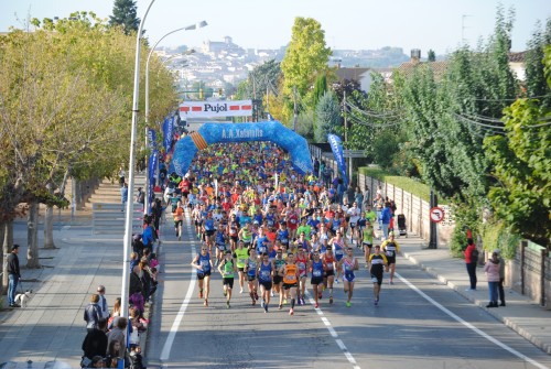
<svg viewBox="0 0 551 369"><path fill-rule="evenodd" d="M3 253L12 243L18 205L25 203L28 267L39 267L39 204L47 206L44 247L53 248L53 206L68 205L67 178L111 176L128 163L134 55L136 31L91 12L56 21L34 19L26 30L0 37ZM143 70L148 52L141 55ZM158 76L150 84L154 122L175 108L177 95L173 76L156 58L150 62L150 73Z"/></svg>

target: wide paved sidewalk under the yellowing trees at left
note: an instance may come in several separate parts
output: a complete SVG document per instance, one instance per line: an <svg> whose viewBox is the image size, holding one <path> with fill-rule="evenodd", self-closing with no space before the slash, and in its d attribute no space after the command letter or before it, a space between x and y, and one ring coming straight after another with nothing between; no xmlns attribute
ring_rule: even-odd
<svg viewBox="0 0 551 369"><path fill-rule="evenodd" d="M26 221L14 223L14 243L21 245L22 287L33 294L26 308L0 310L0 363L58 360L79 368L86 336L84 306L99 284L106 286L109 310L120 296L123 229L120 235L93 235L89 211L79 211L71 220L66 214L54 217L56 249L40 248L41 269L24 268ZM39 245L43 245L42 221L41 217Z"/></svg>

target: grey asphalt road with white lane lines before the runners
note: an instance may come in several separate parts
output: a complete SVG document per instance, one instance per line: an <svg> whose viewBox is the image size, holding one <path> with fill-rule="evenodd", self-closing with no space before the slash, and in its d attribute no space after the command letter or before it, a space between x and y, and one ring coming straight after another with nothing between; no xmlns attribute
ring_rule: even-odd
<svg viewBox="0 0 551 369"><path fill-rule="evenodd" d="M288 308L278 311L276 303L268 314L259 304L251 306L248 294L239 294L237 279L227 310L218 273L210 282L209 306L203 306L190 267L196 247L188 230L183 241L170 235L162 246L162 282L147 352L151 363L165 368L551 368L550 356L403 258L398 258L396 284L385 281L379 306L372 304L371 283L360 263L352 307L345 306L338 284L333 305L325 297L320 310L312 302L289 316Z"/></svg>

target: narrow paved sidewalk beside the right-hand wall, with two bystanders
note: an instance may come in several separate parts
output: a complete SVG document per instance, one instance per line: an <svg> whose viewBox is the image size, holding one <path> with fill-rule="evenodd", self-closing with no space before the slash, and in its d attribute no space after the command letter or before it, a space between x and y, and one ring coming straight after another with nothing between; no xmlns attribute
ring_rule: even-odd
<svg viewBox="0 0 551 369"><path fill-rule="evenodd" d="M423 240L415 236L397 239L401 254L424 271L437 278L458 294L474 304L486 310L496 319L517 332L534 346L551 355L551 311L547 311L536 302L529 300L509 286L505 286L506 305L498 308L486 308L488 304L488 283L483 267L476 270L478 283L476 291L466 291L469 287L468 275L463 259L450 256L445 248L423 248ZM399 272L399 268L397 268Z"/></svg>

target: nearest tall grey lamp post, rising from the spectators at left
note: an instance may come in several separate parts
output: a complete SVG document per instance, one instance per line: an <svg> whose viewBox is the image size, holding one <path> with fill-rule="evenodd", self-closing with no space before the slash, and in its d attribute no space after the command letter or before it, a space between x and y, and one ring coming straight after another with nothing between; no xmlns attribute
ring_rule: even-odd
<svg viewBox="0 0 551 369"><path fill-rule="evenodd" d="M130 196L134 192L134 166L136 166L136 135L138 126L138 101L140 96L140 48L141 48L141 35L143 30L143 24L145 23L145 18L148 17L151 6L153 6L155 0L151 0L145 14L140 21L140 26L138 29L138 34L136 36L136 63L134 63L134 91L133 91L133 102L132 102L132 129L130 135L130 160L128 163L128 193ZM120 299L120 315L128 317L128 287L130 282L130 250L132 248L132 213L133 213L133 200L127 202L127 214L125 220L125 253L122 262L122 286L121 286L121 299ZM122 348L125 349L125 348Z"/></svg>

